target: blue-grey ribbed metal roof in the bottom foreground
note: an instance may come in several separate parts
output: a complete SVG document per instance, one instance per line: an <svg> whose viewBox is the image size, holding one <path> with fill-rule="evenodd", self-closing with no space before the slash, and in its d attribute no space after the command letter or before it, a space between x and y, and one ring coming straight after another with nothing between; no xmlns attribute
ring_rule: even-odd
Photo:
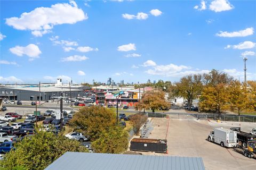
<svg viewBox="0 0 256 170"><path fill-rule="evenodd" d="M66 152L45 170L204 170L202 158Z"/></svg>

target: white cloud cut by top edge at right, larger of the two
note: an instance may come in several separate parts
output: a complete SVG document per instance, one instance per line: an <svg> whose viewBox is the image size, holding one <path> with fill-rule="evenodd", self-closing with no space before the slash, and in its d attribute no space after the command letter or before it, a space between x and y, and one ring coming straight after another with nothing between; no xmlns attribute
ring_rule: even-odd
<svg viewBox="0 0 256 170"><path fill-rule="evenodd" d="M210 10L214 12L228 11L234 8L227 0L214 0L209 6Z"/></svg>

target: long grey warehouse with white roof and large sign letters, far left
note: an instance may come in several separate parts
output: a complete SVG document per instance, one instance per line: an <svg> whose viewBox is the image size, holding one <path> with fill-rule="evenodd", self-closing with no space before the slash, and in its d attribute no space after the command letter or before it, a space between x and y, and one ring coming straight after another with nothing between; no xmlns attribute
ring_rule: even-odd
<svg viewBox="0 0 256 170"><path fill-rule="evenodd" d="M9 100L41 100L49 101L54 99L54 97L66 96L72 98L83 97L85 90L91 89L87 86L77 86L71 87L0 87L0 98L9 99Z"/></svg>

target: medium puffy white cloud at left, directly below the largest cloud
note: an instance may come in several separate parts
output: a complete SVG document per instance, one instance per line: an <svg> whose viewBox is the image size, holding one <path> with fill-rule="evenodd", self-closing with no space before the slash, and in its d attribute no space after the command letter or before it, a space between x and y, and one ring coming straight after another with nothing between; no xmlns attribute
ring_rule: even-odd
<svg viewBox="0 0 256 170"><path fill-rule="evenodd" d="M10 48L10 52L18 56L27 55L29 57L29 61L39 58L39 55L42 53L35 44L29 44L26 47L15 46Z"/></svg>

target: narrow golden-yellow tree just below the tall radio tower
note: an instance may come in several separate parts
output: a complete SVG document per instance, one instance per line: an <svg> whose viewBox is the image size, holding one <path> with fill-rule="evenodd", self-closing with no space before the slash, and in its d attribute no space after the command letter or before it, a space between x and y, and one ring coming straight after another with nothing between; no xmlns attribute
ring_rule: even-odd
<svg viewBox="0 0 256 170"><path fill-rule="evenodd" d="M240 116L240 112L249 108L250 105L246 84L242 84L238 80L231 81L228 91L229 103L231 107L235 107L237 109L238 116Z"/></svg>

